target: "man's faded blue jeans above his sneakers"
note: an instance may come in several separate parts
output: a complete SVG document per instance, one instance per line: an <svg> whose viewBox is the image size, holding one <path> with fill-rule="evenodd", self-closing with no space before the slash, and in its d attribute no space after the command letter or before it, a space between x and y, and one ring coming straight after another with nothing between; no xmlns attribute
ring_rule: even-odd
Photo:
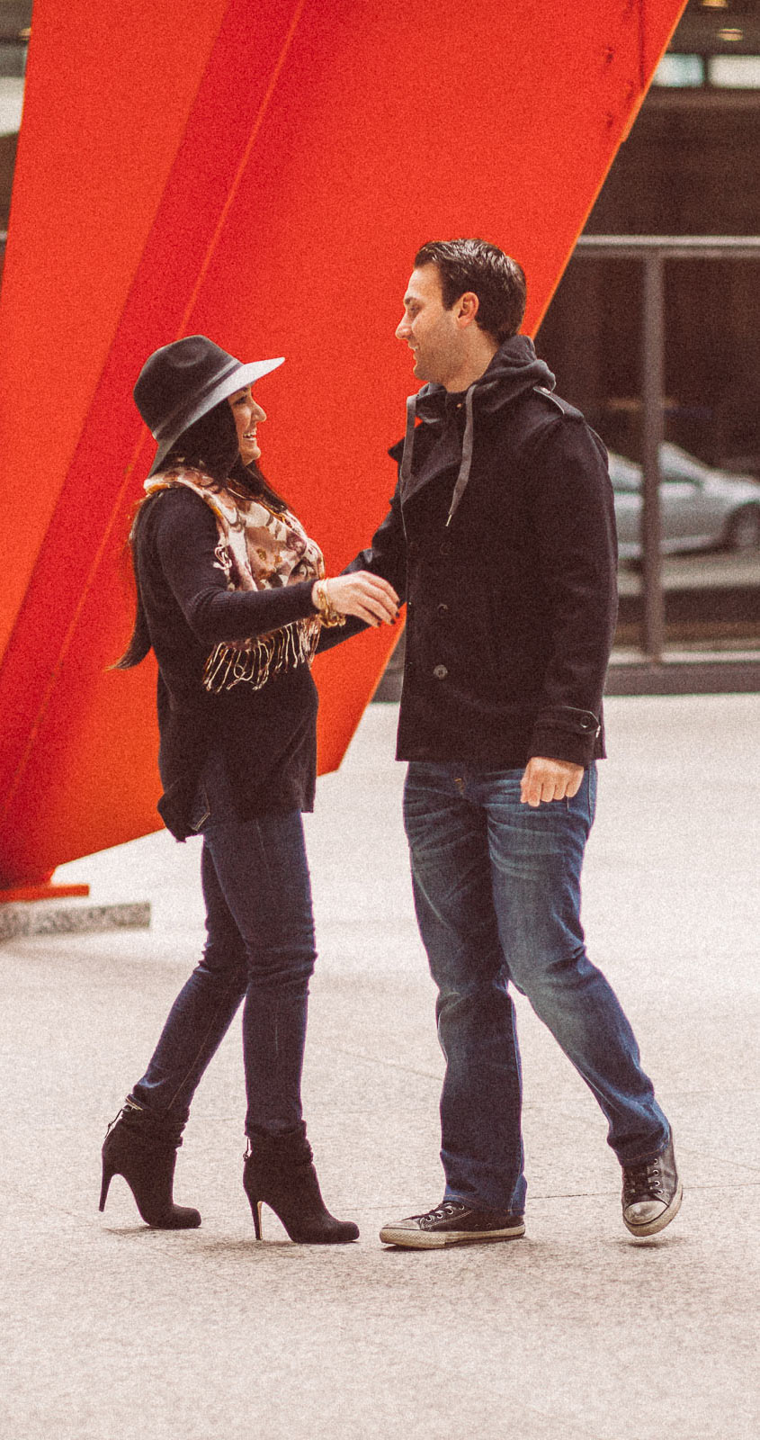
<svg viewBox="0 0 760 1440"><path fill-rule="evenodd" d="M586 956L580 870L596 768L573 799L520 804L522 770L413 762L404 789L415 907L438 985L446 1057L445 1197L521 1214L521 1071L510 982L590 1086L620 1164L659 1155L669 1128L633 1031Z"/></svg>

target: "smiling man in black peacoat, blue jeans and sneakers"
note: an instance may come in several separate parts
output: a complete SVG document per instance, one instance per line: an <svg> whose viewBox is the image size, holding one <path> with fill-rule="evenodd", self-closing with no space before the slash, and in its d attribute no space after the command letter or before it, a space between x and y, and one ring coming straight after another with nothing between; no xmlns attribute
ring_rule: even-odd
<svg viewBox="0 0 760 1440"><path fill-rule="evenodd" d="M396 334L426 383L392 451L390 513L348 569L384 576L407 602L397 757L439 989L446 1188L380 1238L428 1248L524 1234L510 984L602 1106L625 1224L651 1236L681 1204L671 1129L579 917L616 613L606 452L518 334L525 279L502 251L425 245L403 304Z"/></svg>

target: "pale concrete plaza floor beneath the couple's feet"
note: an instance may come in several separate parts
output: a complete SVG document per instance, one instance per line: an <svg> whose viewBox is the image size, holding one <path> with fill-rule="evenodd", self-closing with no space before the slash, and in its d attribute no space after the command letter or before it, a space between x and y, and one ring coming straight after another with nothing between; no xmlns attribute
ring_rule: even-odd
<svg viewBox="0 0 760 1440"><path fill-rule="evenodd" d="M348 1247L292 1246L240 1187L238 1024L177 1166L196 1231L145 1228L99 1145L202 945L200 844L58 878L153 901L150 932L0 946L9 1440L756 1440L760 700L618 698L587 852L592 958L669 1113L679 1217L632 1240L589 1092L524 1001L527 1237L386 1250L440 1197L442 1060L400 827L394 706L308 819L320 965L305 1103Z"/></svg>

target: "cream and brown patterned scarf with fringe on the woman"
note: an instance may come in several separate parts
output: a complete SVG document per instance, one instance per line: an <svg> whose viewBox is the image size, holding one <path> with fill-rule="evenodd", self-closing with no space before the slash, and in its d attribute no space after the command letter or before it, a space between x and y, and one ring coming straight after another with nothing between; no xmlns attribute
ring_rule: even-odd
<svg viewBox="0 0 760 1440"><path fill-rule="evenodd" d="M225 490L200 469L150 475L145 494L178 485L200 495L214 513L216 566L225 575L227 590L269 590L324 577L322 552L289 510L272 510L261 497ZM314 615L253 639L220 641L206 661L204 688L214 696L242 683L261 690L271 675L311 665L321 624Z"/></svg>

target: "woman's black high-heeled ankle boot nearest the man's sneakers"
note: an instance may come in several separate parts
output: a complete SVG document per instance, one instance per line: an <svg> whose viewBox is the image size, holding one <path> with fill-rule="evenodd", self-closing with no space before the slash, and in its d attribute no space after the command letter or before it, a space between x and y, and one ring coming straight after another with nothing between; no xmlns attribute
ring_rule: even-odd
<svg viewBox="0 0 760 1440"><path fill-rule="evenodd" d="M249 1140L243 1187L253 1211L256 1240L262 1237L263 1204L279 1215L291 1240L299 1244L335 1246L358 1237L358 1225L335 1220L325 1208L304 1123L285 1135L261 1130Z"/></svg>

